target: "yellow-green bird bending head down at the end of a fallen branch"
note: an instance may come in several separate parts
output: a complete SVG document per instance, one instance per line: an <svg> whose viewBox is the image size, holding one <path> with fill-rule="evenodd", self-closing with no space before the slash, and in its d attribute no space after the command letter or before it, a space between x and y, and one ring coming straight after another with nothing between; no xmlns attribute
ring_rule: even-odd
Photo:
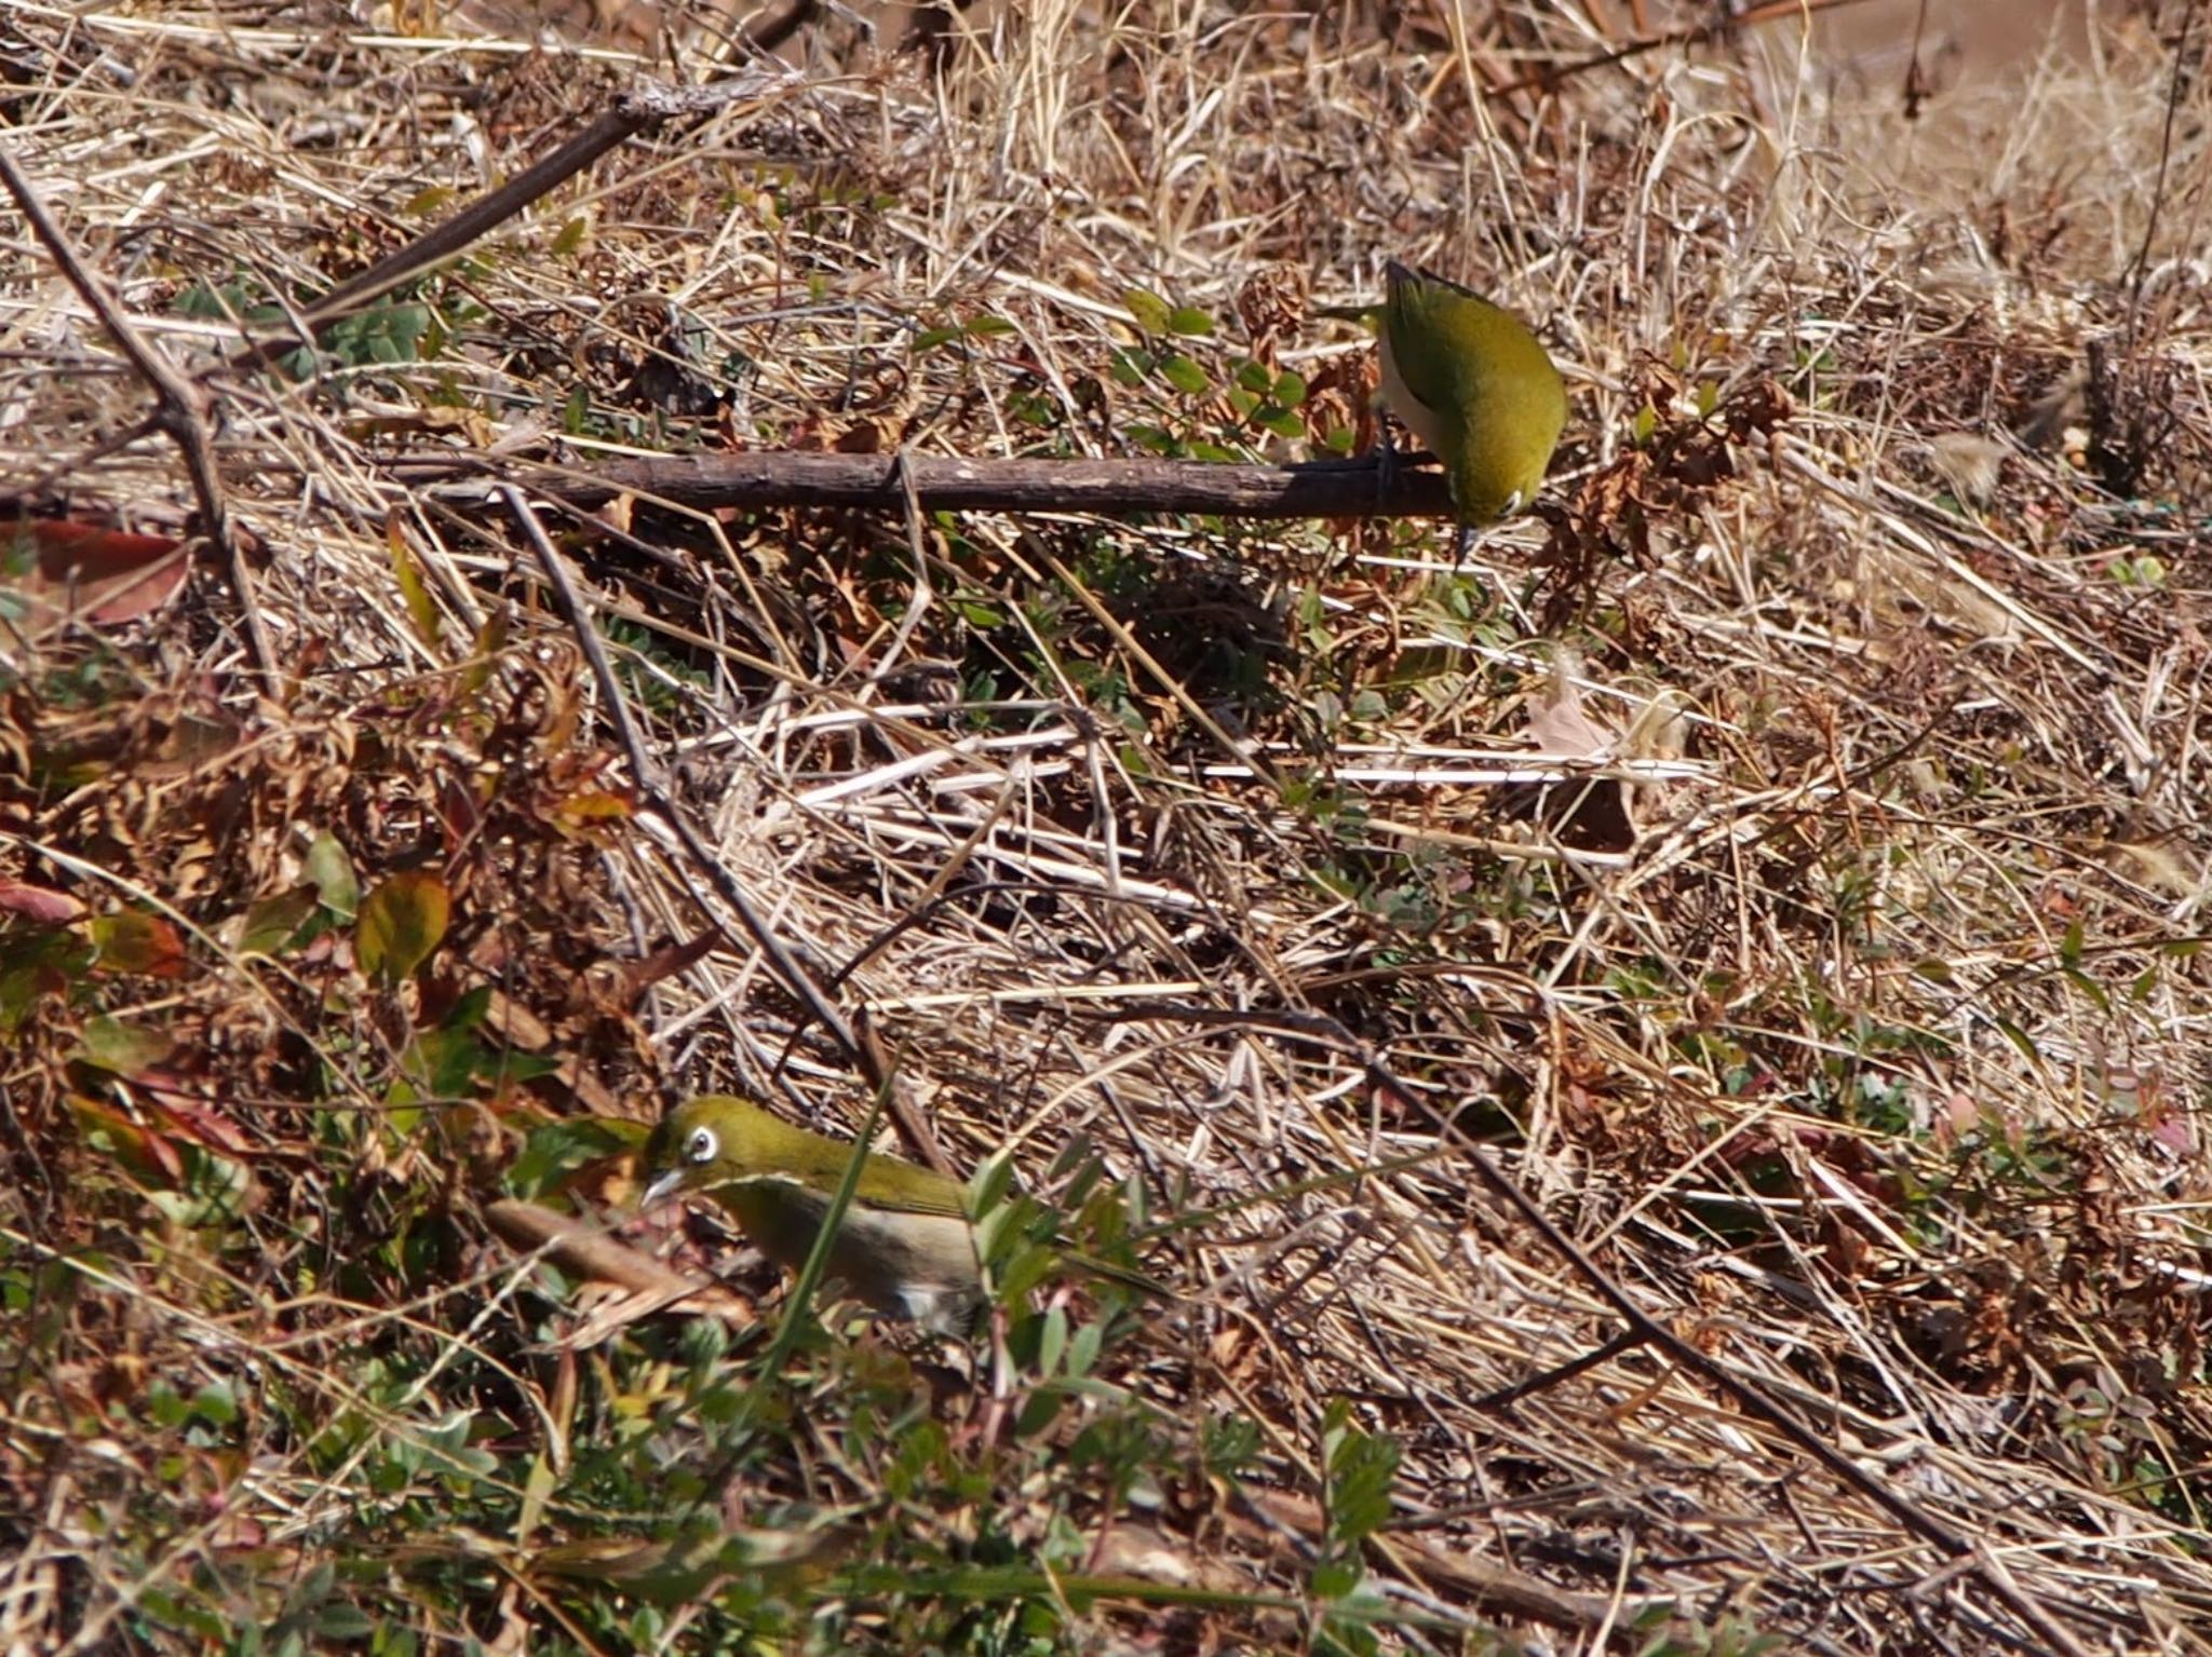
<svg viewBox="0 0 2212 1657"><path fill-rule="evenodd" d="M1376 314L1383 400L1444 462L1462 524L1524 513L1566 426L1566 384L1513 312L1389 263Z"/></svg>

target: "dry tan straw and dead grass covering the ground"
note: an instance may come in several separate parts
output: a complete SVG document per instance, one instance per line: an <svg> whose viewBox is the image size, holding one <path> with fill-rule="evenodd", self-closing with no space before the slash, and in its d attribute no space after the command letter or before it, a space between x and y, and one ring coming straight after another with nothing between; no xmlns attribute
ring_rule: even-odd
<svg viewBox="0 0 2212 1657"><path fill-rule="evenodd" d="M33 656L0 641L18 731L104 725L137 756L75 791L0 782L0 877L80 870L80 895L137 893L219 948L219 917L299 879L296 824L343 826L367 875L405 866L460 806L369 756L416 745L438 773L462 738L422 687L467 683L500 621L504 747L471 751L500 793L453 857L489 919L451 948L515 1027L551 1027L540 1098L637 1118L668 1085L745 1087L849 1125L874 1041L960 1167L1013 1144L1042 1171L1088 1131L1159 1202L1281 1193L1177 1239L1192 1308L1121 1354L1175 1418L1270 1423L1279 1507L1183 1513L1186 1562L1296 1589L1283 1538L1310 1540L1316 1423L1349 1399L1402 1445L1367 1569L1447 1624L1628 1650L1659 1606L1805 1650L2203 1650L2205 31L2177 77L2174 29L2135 9L2095 53L1964 73L1907 119L1889 60L1792 22L1619 55L1626 11L1663 7L980 4L931 80L821 9L787 84L613 148L478 239L438 278L436 360L327 356L294 382L237 356L281 318L179 294L325 292L630 77L717 73L714 31L648 64L465 13L409 33L13 7L0 144L137 336L212 376L276 680L257 700L234 678L252 652L223 581L124 645L128 714L24 694ZM146 384L24 225L4 234L0 475L173 528L177 453L100 451ZM1354 296L1385 254L1484 283L1575 376L1551 521L1458 585L1442 541L1387 526L639 497L580 519L549 482L695 444L1011 457L1051 433L1115 457L1192 407L1115 380L1144 342L1130 289L1214 320L1188 351L1219 387L1248 278ZM1274 369L1318 398L1356 351L1303 323ZM2086 391L2039 407L2062 384ZM1962 431L1973 488L1940 460ZM1254 462L1298 457L1250 435ZM500 504L522 495L407 471L462 451L480 482L531 482L580 614L617 636L604 676L533 550L553 541ZM1141 603L1115 566L1148 572ZM1535 756L1566 643L1573 729L1599 736ZM208 685L234 687L237 747L148 769ZM1655 707L1659 747L1604 749ZM666 811L522 833L571 729ZM1632 795L1628 848L1577 842L1559 804L1599 784ZM646 992L593 977L686 939ZM270 1158L301 1142L303 1074L374 1105L396 1063L372 1010L234 954L161 1016ZM863 1025L854 1052L836 1023ZM66 1030L33 1030L0 1089L49 1169L84 1169ZM484 1120L471 1155L495 1164L513 1144ZM1447 1120L1958 1558L1652 1345L1480 1407L1619 1319L1460 1151L1301 1189L1438 1149ZM261 1167L261 1224L294 1248L314 1180L279 1167L312 1164ZM84 1239L62 1178L15 1182L11 1248ZM403 1155L387 1178L484 1175ZM42 1387L91 1387L104 1357L265 1365L336 1410L338 1354L372 1332L489 1345L518 1279L484 1259L467 1297L325 1304L296 1337L104 1266L117 1321L84 1315L7 1405L0 1646L102 1648L146 1591L106 1573L71 1476L42 1482L66 1436ZM135 1357L104 1354L124 1326ZM409 1429L414 1403L376 1410ZM232 1502L263 1542L343 1535L345 1467L276 1436L252 1467Z"/></svg>

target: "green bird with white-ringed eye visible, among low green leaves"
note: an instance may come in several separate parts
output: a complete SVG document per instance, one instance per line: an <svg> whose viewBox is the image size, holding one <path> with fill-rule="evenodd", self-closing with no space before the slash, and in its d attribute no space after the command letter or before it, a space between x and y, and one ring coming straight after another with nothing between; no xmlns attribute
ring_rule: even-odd
<svg viewBox="0 0 2212 1657"><path fill-rule="evenodd" d="M785 1270L805 1266L854 1147L770 1116L732 1094L677 1105L646 1140L646 1209L697 1193L719 1202ZM1110 1262L1060 1259L1146 1295L1168 1290ZM869 1153L830 1244L827 1273L856 1299L940 1334L967 1334L984 1304L964 1186L936 1169Z"/></svg>

